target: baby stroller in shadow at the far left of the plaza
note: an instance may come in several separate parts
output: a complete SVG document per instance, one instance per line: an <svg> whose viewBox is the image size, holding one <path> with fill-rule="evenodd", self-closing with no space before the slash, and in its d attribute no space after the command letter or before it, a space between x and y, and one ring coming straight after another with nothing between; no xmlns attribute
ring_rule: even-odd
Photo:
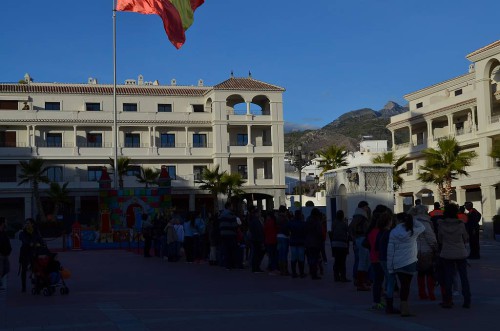
<svg viewBox="0 0 500 331"><path fill-rule="evenodd" d="M47 248L40 249L31 264L31 293L50 296L59 288L59 293L62 295L69 294L62 271L57 253L51 253Z"/></svg>

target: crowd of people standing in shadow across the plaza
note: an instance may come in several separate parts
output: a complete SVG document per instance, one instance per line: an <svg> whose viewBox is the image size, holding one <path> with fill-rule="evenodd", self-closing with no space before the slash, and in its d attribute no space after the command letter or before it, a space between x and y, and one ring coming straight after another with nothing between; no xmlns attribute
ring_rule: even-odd
<svg viewBox="0 0 500 331"><path fill-rule="evenodd" d="M144 215L142 235L144 257L156 255L169 262L183 258L187 263L208 261L228 270L249 267L253 273L309 276L313 280L324 275L329 238L333 281L339 283L351 282L346 260L352 242L352 282L356 289L372 292L374 310L411 316L408 300L414 276L420 300L435 301L439 285L443 308L453 307L453 291L460 279L462 306L470 308L467 259L480 258L480 220L481 214L472 202L462 207L445 203L443 208L435 203L428 212L417 200L408 212L394 215L387 206L377 205L372 211L368 202L360 201L350 222L338 210L329 227L326 215L318 208L313 208L307 218L301 210L292 214L285 206L267 212L251 207L239 217L227 203L220 214L206 217L201 213L185 217L173 213L150 220ZM6 287L12 250L4 228L5 219L0 218L0 289ZM30 256L42 243L33 220L27 220L19 239L19 274L25 292ZM399 309L394 304L396 294Z"/></svg>

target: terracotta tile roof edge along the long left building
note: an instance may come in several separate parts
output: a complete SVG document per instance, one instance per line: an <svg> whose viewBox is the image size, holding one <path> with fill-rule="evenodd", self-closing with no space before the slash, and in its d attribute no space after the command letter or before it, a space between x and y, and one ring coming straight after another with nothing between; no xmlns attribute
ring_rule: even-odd
<svg viewBox="0 0 500 331"><path fill-rule="evenodd" d="M203 96L210 88L166 86L117 86L119 95ZM112 85L0 84L0 93L113 94Z"/></svg>

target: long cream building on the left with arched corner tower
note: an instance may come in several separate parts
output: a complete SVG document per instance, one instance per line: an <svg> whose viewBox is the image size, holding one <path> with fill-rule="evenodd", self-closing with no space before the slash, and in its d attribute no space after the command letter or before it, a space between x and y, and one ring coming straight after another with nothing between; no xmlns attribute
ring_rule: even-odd
<svg viewBox="0 0 500 331"><path fill-rule="evenodd" d="M166 165L172 203L211 206L195 180L206 167L239 172L246 199L263 208L284 203L284 89L232 77L215 86L178 86L127 80L117 87L118 156L134 166L125 187L141 187L140 167ZM0 84L0 207L4 216L34 215L30 186L18 185L19 161L39 157L52 181L68 182L66 213L95 213L97 180L114 155L113 87L98 84ZM47 185L41 190L46 191ZM42 194L43 195L43 194Z"/></svg>

